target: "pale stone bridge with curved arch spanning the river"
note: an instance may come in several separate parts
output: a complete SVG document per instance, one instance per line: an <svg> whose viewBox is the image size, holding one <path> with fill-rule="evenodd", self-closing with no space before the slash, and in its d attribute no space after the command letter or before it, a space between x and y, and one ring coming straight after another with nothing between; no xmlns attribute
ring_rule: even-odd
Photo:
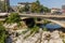
<svg viewBox="0 0 65 43"><path fill-rule="evenodd" d="M65 15L62 14L62 15L51 15L51 14L47 14L47 15L43 15L43 14L20 14L21 18L22 19L25 19L25 18L34 18L34 17L37 17L37 18L44 18L49 22L52 22L52 23L55 23L62 27L65 28ZM4 18L0 18L0 20L4 20Z"/></svg>

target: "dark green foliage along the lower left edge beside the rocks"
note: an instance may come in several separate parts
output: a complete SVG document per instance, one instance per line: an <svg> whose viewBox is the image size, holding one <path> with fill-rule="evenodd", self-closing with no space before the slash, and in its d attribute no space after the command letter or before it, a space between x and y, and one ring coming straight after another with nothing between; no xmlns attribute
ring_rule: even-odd
<svg viewBox="0 0 65 43"><path fill-rule="evenodd" d="M6 37L8 34L6 34L5 28L0 23L0 43L5 43Z"/></svg>

